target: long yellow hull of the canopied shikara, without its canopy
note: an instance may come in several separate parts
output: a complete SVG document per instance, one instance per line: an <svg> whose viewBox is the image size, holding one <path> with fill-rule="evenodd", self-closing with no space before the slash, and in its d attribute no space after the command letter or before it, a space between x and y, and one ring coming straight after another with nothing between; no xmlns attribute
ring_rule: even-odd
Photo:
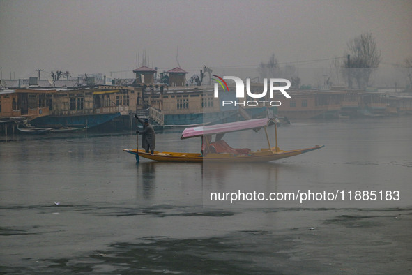
<svg viewBox="0 0 412 275"><path fill-rule="evenodd" d="M309 151L314 151L316 149L321 149L323 146L316 145L314 147L305 149L296 149L283 151L275 147L272 149L261 149L258 151L250 152L249 154L235 155L230 153L220 153L220 154L208 154L203 157L196 153L176 153L176 152L160 152L155 151L154 154L146 153L146 151L139 149L123 149L130 154L141 156L142 158L148 158L152 161L172 161L172 162L190 162L190 163L201 163L203 161L210 162L236 162L236 163L247 163L247 162L268 162L276 161L281 158L289 158L291 156L297 156L300 154L307 153Z"/></svg>

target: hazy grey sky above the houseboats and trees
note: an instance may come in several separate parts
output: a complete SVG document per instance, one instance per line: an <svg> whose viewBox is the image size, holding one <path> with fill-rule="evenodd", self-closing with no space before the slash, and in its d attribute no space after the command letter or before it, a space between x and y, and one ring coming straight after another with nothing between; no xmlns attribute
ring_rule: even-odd
<svg viewBox="0 0 412 275"><path fill-rule="evenodd" d="M52 70L109 73L149 66L198 71L342 57L371 31L381 66L412 56L412 1L4 1L3 78ZM142 60L141 60L142 61ZM328 66L323 61L307 66ZM126 77L132 74L116 75Z"/></svg>

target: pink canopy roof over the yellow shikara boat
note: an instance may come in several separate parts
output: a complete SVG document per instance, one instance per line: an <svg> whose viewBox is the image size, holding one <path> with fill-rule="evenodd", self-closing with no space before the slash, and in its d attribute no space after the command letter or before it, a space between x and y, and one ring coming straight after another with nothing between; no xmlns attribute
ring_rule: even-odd
<svg viewBox="0 0 412 275"><path fill-rule="evenodd" d="M208 126L198 126L185 128L182 133L181 140L190 137L201 137L202 135L213 135L220 133L229 133L243 131L248 129L262 128L274 123L273 119L250 119L245 121L230 122L225 124L216 124Z"/></svg>

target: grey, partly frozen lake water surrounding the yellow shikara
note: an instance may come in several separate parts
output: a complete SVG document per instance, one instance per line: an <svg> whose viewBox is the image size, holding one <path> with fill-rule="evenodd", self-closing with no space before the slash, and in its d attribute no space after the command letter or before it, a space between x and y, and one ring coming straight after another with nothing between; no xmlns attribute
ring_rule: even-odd
<svg viewBox="0 0 412 275"><path fill-rule="evenodd" d="M224 139L259 149L262 135ZM411 274L411 118L300 121L278 137L325 147L264 164L136 164L130 131L0 137L0 273ZM156 149L200 148L164 131ZM346 197L210 200L239 191Z"/></svg>

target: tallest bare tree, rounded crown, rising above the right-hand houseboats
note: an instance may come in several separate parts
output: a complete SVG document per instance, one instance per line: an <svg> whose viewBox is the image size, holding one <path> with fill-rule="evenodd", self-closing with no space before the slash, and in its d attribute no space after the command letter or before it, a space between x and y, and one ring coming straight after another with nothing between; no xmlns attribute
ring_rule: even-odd
<svg viewBox="0 0 412 275"><path fill-rule="evenodd" d="M364 89L369 83L371 73L378 68L381 63L381 52L376 47L375 38L372 33L361 34L350 40L347 44L350 63L346 60L344 68L346 74L356 80L359 89Z"/></svg>

